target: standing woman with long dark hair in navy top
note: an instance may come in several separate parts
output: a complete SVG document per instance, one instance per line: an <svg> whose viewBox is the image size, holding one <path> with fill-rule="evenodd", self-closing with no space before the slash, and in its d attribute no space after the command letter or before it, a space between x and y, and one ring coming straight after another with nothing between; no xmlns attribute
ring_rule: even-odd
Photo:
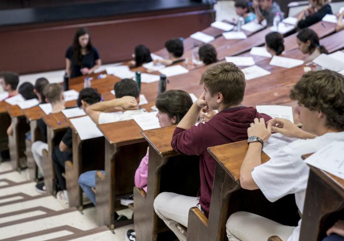
<svg viewBox="0 0 344 241"><path fill-rule="evenodd" d="M69 78L92 74L100 65L98 51L92 46L88 30L79 28L72 46L66 51L66 74Z"/></svg>

